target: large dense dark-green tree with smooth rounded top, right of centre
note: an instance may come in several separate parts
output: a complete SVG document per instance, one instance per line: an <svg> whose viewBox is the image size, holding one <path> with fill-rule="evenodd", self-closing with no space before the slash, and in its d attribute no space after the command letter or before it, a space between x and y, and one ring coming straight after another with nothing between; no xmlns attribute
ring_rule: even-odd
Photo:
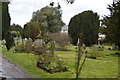
<svg viewBox="0 0 120 80"><path fill-rule="evenodd" d="M84 43L87 46L97 43L99 16L93 11L84 11L71 18L68 27L68 33L72 38L72 43L77 44L78 38L82 33L84 35Z"/></svg>

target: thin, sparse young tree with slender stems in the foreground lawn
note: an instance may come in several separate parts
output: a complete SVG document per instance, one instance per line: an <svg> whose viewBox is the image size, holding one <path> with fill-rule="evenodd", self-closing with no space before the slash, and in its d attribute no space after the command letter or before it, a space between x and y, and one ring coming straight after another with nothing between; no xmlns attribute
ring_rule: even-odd
<svg viewBox="0 0 120 80"><path fill-rule="evenodd" d="M86 61L87 51L84 52L84 47L82 46L84 43L84 35L83 33L80 33L80 37L78 38L78 54L75 59L75 70L76 70L76 79L78 80L79 75L81 73L81 70L83 68L83 65Z"/></svg>

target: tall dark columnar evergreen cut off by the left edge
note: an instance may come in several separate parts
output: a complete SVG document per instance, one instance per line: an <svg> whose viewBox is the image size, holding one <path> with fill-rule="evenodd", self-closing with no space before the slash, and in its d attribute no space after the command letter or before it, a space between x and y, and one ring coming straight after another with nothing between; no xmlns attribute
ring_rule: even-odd
<svg viewBox="0 0 120 80"><path fill-rule="evenodd" d="M10 14L8 9L9 2L2 2L2 39L10 27Z"/></svg>

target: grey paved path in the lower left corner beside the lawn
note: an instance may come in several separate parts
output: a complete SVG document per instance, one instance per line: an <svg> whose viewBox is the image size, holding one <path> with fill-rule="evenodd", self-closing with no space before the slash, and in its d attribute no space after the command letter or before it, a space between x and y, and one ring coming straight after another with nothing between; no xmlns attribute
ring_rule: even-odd
<svg viewBox="0 0 120 80"><path fill-rule="evenodd" d="M0 55L0 77L30 78L30 76Z"/></svg>

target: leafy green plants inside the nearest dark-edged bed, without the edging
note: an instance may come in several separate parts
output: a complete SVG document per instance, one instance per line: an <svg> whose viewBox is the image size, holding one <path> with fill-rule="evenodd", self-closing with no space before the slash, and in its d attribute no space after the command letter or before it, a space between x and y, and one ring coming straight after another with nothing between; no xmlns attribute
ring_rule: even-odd
<svg viewBox="0 0 120 80"><path fill-rule="evenodd" d="M59 71L65 68L63 60L57 55L51 55L51 53L38 55L37 62L41 63L41 65L47 69Z"/></svg>

